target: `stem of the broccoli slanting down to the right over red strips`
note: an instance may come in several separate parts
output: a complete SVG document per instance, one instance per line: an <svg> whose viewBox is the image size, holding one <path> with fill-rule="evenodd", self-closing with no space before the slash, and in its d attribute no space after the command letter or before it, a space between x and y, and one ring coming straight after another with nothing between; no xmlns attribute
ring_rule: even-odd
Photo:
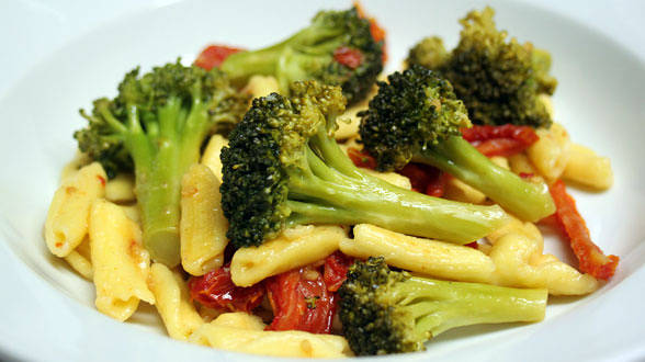
<svg viewBox="0 0 645 362"><path fill-rule="evenodd" d="M412 161L434 166L454 176L524 220L536 222L555 212L546 185L523 181L493 163L460 136L451 136L421 150Z"/></svg>

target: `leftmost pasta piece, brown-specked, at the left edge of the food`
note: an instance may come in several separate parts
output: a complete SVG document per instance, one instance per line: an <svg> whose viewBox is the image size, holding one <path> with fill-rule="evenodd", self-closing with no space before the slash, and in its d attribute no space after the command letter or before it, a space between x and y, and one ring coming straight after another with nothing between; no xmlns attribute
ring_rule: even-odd
<svg viewBox="0 0 645 362"><path fill-rule="evenodd" d="M45 220L45 241L53 254L64 258L81 244L88 234L90 206L105 195L106 178L101 165L93 162L56 190Z"/></svg>

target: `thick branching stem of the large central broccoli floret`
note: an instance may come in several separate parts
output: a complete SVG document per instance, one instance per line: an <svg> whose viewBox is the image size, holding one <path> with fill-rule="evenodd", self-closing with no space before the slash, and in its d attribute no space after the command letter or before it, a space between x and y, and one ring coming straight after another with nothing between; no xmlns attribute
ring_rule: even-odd
<svg viewBox="0 0 645 362"><path fill-rule="evenodd" d="M312 138L308 169L290 174L295 224L374 224L394 231L455 244L477 240L506 222L499 206L456 203L392 185L361 172L338 144L325 135Z"/></svg>

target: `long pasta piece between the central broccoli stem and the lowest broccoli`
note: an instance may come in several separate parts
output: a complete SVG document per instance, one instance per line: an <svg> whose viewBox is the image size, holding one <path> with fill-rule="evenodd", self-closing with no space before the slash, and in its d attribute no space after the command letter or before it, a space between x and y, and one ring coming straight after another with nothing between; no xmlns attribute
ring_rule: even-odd
<svg viewBox="0 0 645 362"><path fill-rule="evenodd" d="M373 225L354 226L354 238L340 241L340 251L366 259L383 256L389 265L426 275L465 282L489 282L493 260L469 247L421 239Z"/></svg>

